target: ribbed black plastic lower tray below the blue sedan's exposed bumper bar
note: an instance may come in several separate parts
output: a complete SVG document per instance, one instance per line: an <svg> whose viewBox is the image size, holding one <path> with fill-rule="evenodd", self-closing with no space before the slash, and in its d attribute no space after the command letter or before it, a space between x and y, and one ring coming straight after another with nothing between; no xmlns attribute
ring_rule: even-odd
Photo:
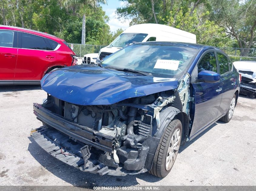
<svg viewBox="0 0 256 191"><path fill-rule="evenodd" d="M81 148L84 148L84 145L74 145L68 142L70 139L67 135L47 126L32 129L31 136L41 148L53 157L84 172L99 175L125 176L127 174L138 174L147 171L144 168L139 171L126 170L123 168L123 164L119 164L117 168L109 167L91 157L86 158L85 164L83 152L81 152Z"/></svg>

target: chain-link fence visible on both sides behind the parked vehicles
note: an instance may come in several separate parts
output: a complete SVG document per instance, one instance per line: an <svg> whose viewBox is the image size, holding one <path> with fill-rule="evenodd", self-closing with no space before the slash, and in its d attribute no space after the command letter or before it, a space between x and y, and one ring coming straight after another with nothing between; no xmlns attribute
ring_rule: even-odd
<svg viewBox="0 0 256 191"><path fill-rule="evenodd" d="M71 43L68 43L71 46ZM89 45L89 44L73 44L73 51L79 57L83 57L85 54L89 53L99 53L100 49L106 46L100 45ZM231 60L255 60L256 61L256 49L243 49L243 48L229 48L229 47L219 47L223 52L225 52Z"/></svg>

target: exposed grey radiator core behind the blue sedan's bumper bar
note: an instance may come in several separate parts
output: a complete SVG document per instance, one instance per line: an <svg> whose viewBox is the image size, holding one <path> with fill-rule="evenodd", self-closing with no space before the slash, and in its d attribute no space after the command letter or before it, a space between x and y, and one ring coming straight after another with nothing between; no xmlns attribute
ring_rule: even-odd
<svg viewBox="0 0 256 191"><path fill-rule="evenodd" d="M64 117L68 120L74 121L72 118L72 105L71 103L65 102L65 114ZM84 112L86 110L86 112ZM89 128L94 129L94 127L97 125L95 123L96 119L96 113L93 112L92 107L86 106L86 107L79 107L78 110L78 116L77 116L77 123L82 126L86 126Z"/></svg>

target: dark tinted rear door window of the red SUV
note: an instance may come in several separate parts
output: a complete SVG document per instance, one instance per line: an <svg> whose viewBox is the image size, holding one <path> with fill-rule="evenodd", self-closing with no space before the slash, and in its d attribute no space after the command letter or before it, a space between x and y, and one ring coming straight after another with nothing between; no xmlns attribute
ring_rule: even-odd
<svg viewBox="0 0 256 191"><path fill-rule="evenodd" d="M43 37L33 34L22 33L22 48L46 50L46 43Z"/></svg>

